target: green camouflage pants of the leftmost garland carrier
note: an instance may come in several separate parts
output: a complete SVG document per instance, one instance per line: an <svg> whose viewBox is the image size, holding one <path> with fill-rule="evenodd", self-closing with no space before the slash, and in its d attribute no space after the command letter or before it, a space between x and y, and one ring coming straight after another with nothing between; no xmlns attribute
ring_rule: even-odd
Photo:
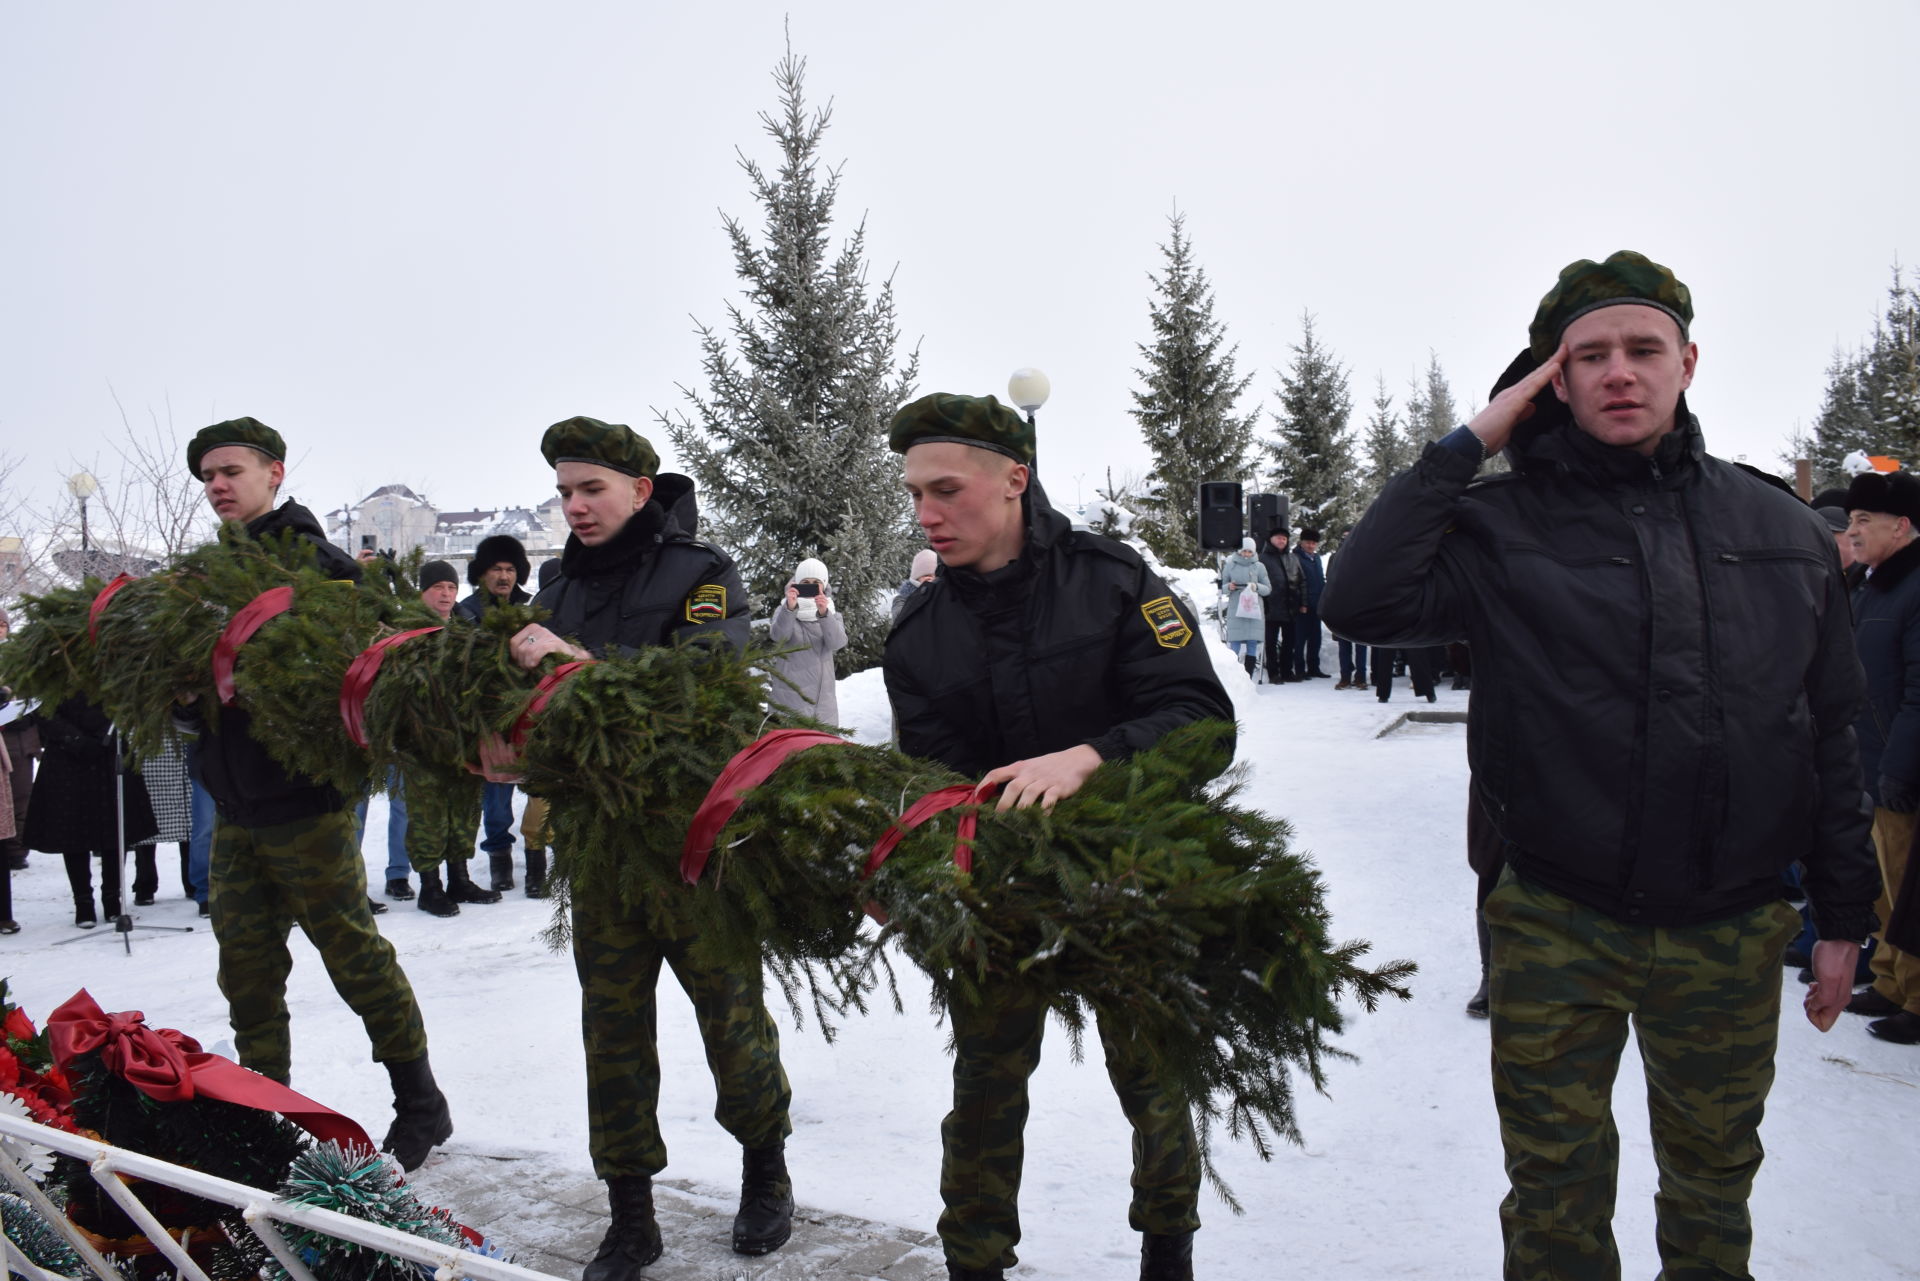
<svg viewBox="0 0 1920 1281"><path fill-rule="evenodd" d="M292 1070L286 976L294 956L286 935L296 924L321 953L334 991L367 1024L378 1062L426 1052L413 987L367 910L367 868L351 810L271 828L219 820L207 908L242 1066L278 1081Z"/></svg>

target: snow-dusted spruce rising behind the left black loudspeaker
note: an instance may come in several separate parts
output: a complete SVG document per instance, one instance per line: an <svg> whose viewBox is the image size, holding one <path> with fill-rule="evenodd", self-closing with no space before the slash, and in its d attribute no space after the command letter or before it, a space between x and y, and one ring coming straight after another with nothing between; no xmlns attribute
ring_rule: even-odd
<svg viewBox="0 0 1920 1281"><path fill-rule="evenodd" d="M1175 567L1204 563L1198 511L1200 482L1254 478L1248 449L1260 409L1238 413L1236 403L1252 375L1235 371L1236 346L1227 346L1227 325L1213 319L1213 286L1192 255L1187 215L1167 219L1173 232L1160 246L1165 269L1148 273L1156 298L1146 305L1154 342L1139 344L1142 386L1133 390L1133 413L1146 447L1154 451L1148 490L1160 499L1140 524L1140 538Z"/></svg>

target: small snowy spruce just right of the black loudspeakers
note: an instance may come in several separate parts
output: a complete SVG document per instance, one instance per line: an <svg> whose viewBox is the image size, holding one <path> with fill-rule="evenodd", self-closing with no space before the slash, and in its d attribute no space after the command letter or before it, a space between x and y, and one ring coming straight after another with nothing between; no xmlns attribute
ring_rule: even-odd
<svg viewBox="0 0 1920 1281"><path fill-rule="evenodd" d="M1346 369L1313 332L1313 315L1300 313L1300 342L1281 373L1279 432L1263 442L1273 488L1292 499L1294 526L1313 526L1336 542L1359 517L1354 434Z"/></svg>

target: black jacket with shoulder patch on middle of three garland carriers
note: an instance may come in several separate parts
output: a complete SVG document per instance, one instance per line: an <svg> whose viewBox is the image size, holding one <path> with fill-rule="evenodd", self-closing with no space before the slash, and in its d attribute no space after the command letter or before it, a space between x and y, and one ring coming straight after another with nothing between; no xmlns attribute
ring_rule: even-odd
<svg viewBox="0 0 1920 1281"><path fill-rule="evenodd" d="M653 497L618 534L597 547L568 536L561 578L534 597L553 613L547 628L599 657L707 636L745 649L739 570L687 532L693 519L693 482L660 472Z"/></svg>

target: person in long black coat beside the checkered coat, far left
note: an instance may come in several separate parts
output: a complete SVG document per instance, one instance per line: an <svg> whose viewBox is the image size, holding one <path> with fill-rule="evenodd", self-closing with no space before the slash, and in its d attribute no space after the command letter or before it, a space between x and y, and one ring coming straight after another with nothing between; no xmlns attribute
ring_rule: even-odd
<svg viewBox="0 0 1920 1281"><path fill-rule="evenodd" d="M33 780L25 839L31 849L67 860L73 924L92 930L98 922L92 860L100 858L102 914L119 916L121 855L154 835L154 810L140 776L131 770L121 774L127 828L119 830L113 726L86 699L71 697L46 716L40 743L44 757Z"/></svg>

